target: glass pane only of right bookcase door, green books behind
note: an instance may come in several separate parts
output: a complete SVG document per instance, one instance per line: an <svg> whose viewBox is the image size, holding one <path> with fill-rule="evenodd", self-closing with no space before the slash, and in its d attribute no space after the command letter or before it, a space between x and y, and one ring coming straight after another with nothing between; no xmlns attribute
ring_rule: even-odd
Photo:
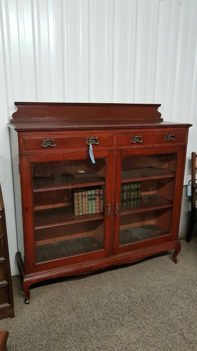
<svg viewBox="0 0 197 351"><path fill-rule="evenodd" d="M119 245L171 232L177 154L122 160Z"/></svg>

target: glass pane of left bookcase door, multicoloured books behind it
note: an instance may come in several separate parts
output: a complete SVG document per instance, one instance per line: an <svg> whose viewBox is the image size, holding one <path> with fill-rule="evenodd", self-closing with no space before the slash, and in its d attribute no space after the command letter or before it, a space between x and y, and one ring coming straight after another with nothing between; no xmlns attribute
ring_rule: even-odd
<svg viewBox="0 0 197 351"><path fill-rule="evenodd" d="M106 159L33 162L36 263L104 250Z"/></svg>

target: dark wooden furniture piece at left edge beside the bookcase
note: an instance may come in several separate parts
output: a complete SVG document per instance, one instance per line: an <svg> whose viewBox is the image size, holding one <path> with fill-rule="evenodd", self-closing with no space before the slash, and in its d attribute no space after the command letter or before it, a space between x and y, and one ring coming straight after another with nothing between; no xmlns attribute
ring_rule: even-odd
<svg viewBox="0 0 197 351"><path fill-rule="evenodd" d="M0 187L0 319L14 317L5 209Z"/></svg>

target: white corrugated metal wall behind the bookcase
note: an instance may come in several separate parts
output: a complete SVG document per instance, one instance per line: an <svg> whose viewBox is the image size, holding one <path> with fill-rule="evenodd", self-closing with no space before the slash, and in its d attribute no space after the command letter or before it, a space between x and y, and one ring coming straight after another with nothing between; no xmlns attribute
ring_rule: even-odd
<svg viewBox="0 0 197 351"><path fill-rule="evenodd" d="M164 120L194 124L190 158L197 0L0 0L0 31L0 182L14 274L13 102L161 103Z"/></svg>

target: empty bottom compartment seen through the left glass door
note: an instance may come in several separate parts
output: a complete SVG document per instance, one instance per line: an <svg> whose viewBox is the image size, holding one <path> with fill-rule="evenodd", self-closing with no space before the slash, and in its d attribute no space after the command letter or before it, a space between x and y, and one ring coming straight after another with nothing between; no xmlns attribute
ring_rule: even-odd
<svg viewBox="0 0 197 351"><path fill-rule="evenodd" d="M103 220L73 223L35 230L36 262L44 262L101 250Z"/></svg>

